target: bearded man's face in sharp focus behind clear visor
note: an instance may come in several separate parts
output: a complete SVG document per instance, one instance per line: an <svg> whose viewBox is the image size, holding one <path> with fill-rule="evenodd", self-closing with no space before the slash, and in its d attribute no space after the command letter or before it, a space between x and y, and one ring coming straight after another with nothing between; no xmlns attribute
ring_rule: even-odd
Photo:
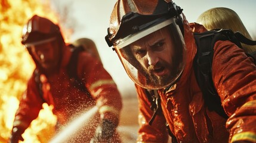
<svg viewBox="0 0 256 143"><path fill-rule="evenodd" d="M164 28L158 30L130 45L132 54L146 69L151 80L159 85L170 79L174 65L174 43Z"/></svg>

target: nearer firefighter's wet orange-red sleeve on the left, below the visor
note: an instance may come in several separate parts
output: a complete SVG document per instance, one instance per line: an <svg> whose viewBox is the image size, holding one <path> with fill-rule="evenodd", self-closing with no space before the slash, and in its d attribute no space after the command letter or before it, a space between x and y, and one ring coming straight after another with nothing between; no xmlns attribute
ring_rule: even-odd
<svg viewBox="0 0 256 143"><path fill-rule="evenodd" d="M150 101L147 99L146 89L135 85L138 96L138 130L137 142L168 142L168 132L166 130L166 120L162 113L157 114L152 125L149 121L153 116L150 109Z"/></svg>

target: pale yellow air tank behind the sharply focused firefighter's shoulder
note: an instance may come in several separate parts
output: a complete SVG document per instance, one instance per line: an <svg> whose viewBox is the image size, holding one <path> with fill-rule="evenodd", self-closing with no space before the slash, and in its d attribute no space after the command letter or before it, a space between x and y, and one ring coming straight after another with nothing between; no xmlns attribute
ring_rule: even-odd
<svg viewBox="0 0 256 143"><path fill-rule="evenodd" d="M197 23L202 24L207 30L211 29L231 29L233 32L241 32L246 38L251 39L248 30L245 28L239 15L225 7L215 7L206 10L199 15ZM252 53L256 51L255 46L246 45L241 43L245 52Z"/></svg>

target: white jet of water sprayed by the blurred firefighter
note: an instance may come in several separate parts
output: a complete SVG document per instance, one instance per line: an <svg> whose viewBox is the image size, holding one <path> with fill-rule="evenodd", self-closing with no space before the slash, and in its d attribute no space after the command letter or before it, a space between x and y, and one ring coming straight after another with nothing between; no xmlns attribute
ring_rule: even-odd
<svg viewBox="0 0 256 143"><path fill-rule="evenodd" d="M97 113L98 107L92 107L85 113L82 113L76 119L72 120L61 132L54 136L53 139L49 143L59 143L67 141L67 139L71 138L76 132L79 131L83 126L88 124L88 122L93 118L93 116Z"/></svg>

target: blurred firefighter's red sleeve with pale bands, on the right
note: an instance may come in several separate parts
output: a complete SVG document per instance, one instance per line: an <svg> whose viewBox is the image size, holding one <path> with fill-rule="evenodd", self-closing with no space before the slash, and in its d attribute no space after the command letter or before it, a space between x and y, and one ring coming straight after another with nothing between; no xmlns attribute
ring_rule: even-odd
<svg viewBox="0 0 256 143"><path fill-rule="evenodd" d="M103 64L85 52L79 56L78 71L86 87L99 107L101 119L109 119L116 126L122 109L121 94L110 74L104 69Z"/></svg>

